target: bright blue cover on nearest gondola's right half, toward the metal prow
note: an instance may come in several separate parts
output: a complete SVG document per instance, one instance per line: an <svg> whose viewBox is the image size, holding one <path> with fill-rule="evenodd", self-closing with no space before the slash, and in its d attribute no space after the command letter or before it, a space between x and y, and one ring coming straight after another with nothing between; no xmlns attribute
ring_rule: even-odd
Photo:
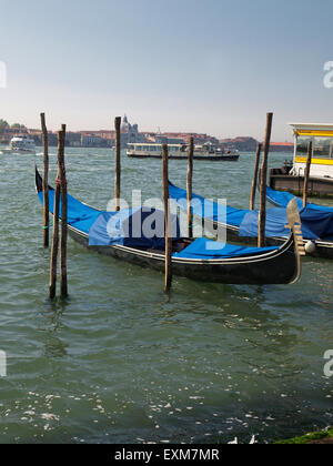
<svg viewBox="0 0 333 466"><path fill-rule="evenodd" d="M276 251L279 247L242 247L233 244L222 244L216 241L199 237L184 251L173 254L174 257L182 259L232 259L232 257L249 257L258 254Z"/></svg>

